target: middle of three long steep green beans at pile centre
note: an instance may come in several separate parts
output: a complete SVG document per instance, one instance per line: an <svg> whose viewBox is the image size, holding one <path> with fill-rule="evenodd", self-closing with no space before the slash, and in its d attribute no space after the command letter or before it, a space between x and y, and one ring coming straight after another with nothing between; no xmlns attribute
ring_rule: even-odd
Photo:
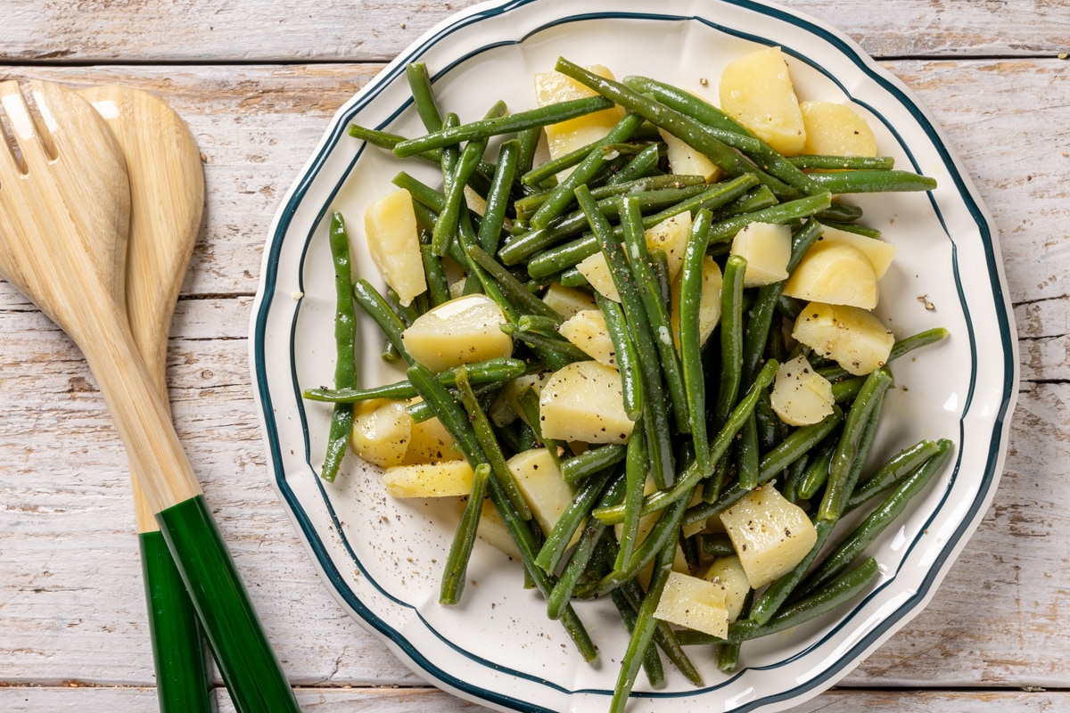
<svg viewBox="0 0 1070 713"><path fill-rule="evenodd" d="M691 419L687 405L687 392L684 388L679 354L676 352L676 345L672 339L669 305L661 298L661 288L654 274L646 248L642 214L639 203L631 196L625 196L622 199L621 224L624 228L625 253L628 257L628 265L631 267L631 276L639 288L639 298L646 312L646 323L649 325L654 346L661 362L661 373L664 375L666 391L669 396L669 404L672 406L676 431L690 433Z"/></svg>

